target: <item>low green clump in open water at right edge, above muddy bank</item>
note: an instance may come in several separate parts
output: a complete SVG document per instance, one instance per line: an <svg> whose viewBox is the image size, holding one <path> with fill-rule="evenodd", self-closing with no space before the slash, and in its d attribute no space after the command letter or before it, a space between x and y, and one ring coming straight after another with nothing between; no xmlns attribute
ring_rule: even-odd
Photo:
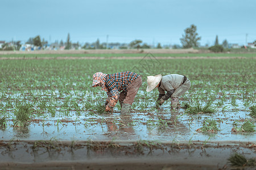
<svg viewBox="0 0 256 170"><path fill-rule="evenodd" d="M233 122L233 132L254 132L256 126L250 120L246 120L243 124L238 121Z"/></svg>

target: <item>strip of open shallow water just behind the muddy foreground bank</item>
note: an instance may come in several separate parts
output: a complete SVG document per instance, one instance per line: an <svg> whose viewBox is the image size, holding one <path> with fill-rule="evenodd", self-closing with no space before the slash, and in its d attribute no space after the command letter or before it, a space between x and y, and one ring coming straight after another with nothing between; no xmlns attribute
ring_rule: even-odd
<svg viewBox="0 0 256 170"><path fill-rule="evenodd" d="M113 114L77 116L71 111L69 116L37 117L24 128L15 128L9 120L7 128L0 130L3 140L151 140L151 141L241 141L255 142L256 133L233 133L233 122L250 118L249 111L240 108L228 109L224 113L185 114L184 109L170 111L164 105L159 111L131 113L120 116ZM85 114L88 115L88 114ZM200 133L205 118L219 120L217 133ZM160 121L165 124L160 124Z"/></svg>

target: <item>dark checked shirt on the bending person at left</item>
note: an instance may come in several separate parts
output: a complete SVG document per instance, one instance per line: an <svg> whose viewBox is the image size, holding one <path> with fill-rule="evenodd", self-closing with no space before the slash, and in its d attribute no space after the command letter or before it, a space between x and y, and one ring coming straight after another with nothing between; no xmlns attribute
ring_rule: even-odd
<svg viewBox="0 0 256 170"><path fill-rule="evenodd" d="M131 71L125 71L120 73L108 74L106 76L106 86L105 91L111 91L117 88L118 91L126 91L127 86L133 82L133 80L138 78L137 73Z"/></svg>

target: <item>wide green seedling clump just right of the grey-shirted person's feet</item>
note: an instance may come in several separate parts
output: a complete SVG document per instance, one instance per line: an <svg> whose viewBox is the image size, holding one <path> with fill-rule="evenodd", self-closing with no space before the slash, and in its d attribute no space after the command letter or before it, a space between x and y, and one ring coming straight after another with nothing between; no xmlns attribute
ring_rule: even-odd
<svg viewBox="0 0 256 170"><path fill-rule="evenodd" d="M204 107L196 103L195 106L188 107L186 112L189 114L213 113L215 112L215 108L212 106L212 101L209 101Z"/></svg>

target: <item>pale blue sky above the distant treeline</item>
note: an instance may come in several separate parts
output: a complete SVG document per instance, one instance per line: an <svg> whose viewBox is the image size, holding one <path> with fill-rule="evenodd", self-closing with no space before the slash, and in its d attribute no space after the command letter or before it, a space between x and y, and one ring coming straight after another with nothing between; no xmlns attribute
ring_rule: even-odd
<svg viewBox="0 0 256 170"><path fill-rule="evenodd" d="M256 40L255 0L0 0L0 41L40 35L47 41L180 44L197 26L200 44Z"/></svg>

